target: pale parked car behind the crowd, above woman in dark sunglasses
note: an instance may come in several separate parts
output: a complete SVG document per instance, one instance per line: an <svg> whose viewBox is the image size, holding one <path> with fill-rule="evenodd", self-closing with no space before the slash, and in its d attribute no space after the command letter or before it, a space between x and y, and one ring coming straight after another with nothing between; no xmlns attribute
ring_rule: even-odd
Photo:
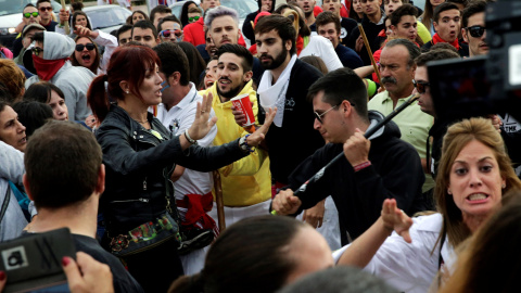
<svg viewBox="0 0 521 293"><path fill-rule="evenodd" d="M88 7L84 8L84 12L89 16L92 29L100 29L105 33L118 29L127 22L127 17L132 14L128 9L114 4Z"/></svg>

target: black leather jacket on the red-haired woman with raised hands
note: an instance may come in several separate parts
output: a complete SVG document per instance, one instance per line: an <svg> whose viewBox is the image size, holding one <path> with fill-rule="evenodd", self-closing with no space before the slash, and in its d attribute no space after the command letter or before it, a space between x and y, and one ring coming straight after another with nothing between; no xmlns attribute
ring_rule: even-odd
<svg viewBox="0 0 521 293"><path fill-rule="evenodd" d="M176 164L211 171L247 155L238 140L213 148L191 145L183 152L179 137L174 137L152 114L148 118L163 139L117 105L111 106L96 132L106 171L101 212L111 235L126 233L165 213L166 196L174 194L169 178Z"/></svg>

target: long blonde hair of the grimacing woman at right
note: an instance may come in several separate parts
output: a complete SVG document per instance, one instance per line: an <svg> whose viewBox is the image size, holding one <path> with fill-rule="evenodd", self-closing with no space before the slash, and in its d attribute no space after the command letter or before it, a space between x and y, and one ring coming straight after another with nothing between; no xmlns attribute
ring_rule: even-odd
<svg viewBox="0 0 521 293"><path fill-rule="evenodd" d="M461 150L473 140L483 143L493 151L500 176L506 179L506 188L503 189L503 193L511 189L521 189L521 181L513 171L512 163L505 150L501 136L492 126L490 119L471 118L450 126L443 139L442 158L436 176L434 200L436 201L437 211L443 215L440 239L446 233L448 243L455 247L469 238L471 231L463 224L461 211L454 203L452 195L447 193L447 187L449 186L449 175L454 161Z"/></svg>

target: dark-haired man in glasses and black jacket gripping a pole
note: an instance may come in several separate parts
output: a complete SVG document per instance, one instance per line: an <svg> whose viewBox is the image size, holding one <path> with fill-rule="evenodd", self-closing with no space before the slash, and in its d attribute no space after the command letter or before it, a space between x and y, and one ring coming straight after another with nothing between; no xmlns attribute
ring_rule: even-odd
<svg viewBox="0 0 521 293"><path fill-rule="evenodd" d="M383 115L368 112L367 89L352 69L340 68L321 77L309 87L307 97L315 111L314 127L330 143L290 175L290 189L272 201L277 215L298 214L331 195L339 211L344 245L378 219L385 199L396 199L399 208L409 215L423 211L420 195L424 176L418 153L399 139L399 129L393 122L369 140L364 137ZM293 190L342 153L345 158L326 169L315 184L294 195Z"/></svg>

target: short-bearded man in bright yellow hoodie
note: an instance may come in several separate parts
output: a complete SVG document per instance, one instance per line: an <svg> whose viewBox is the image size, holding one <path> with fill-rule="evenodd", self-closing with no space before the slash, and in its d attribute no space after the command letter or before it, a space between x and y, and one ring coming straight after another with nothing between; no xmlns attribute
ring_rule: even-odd
<svg viewBox="0 0 521 293"><path fill-rule="evenodd" d="M257 95L253 89L253 56L239 44L223 44L217 52L217 80L205 93L214 97L213 110L218 117L217 136L214 145L244 136L247 131L234 123L231 99L245 94L250 97L255 120L257 120ZM218 171L221 179L226 225L244 217L266 215L271 199L271 174L266 150L251 150L253 153ZM214 206L208 215L217 218Z"/></svg>

